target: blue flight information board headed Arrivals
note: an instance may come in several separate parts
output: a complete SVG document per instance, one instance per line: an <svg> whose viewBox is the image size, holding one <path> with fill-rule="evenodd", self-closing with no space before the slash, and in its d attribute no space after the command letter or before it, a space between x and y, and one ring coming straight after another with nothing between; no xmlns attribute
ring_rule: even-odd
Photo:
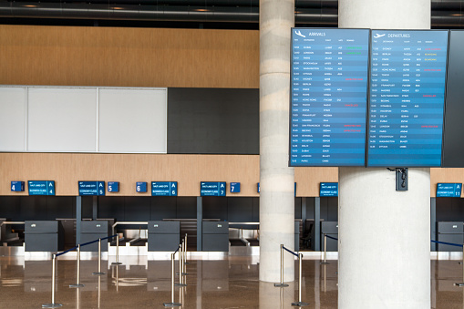
<svg viewBox="0 0 464 309"><path fill-rule="evenodd" d="M292 29L290 166L365 166L368 29Z"/></svg>

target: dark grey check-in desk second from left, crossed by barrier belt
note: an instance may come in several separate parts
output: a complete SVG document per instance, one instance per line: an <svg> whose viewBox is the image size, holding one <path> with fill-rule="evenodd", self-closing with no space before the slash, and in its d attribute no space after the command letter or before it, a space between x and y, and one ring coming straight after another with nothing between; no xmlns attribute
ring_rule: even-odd
<svg viewBox="0 0 464 309"><path fill-rule="evenodd" d="M98 238L108 237L108 221L81 221L80 243L97 241ZM98 252L98 242L81 246L82 252ZM108 239L101 241L101 251L108 251Z"/></svg>

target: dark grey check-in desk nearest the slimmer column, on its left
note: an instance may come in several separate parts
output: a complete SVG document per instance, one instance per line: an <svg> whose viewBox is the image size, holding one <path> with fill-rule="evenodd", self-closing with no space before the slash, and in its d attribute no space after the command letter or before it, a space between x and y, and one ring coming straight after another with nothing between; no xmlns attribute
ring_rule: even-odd
<svg viewBox="0 0 464 309"><path fill-rule="evenodd" d="M229 222L202 222L202 251L229 252Z"/></svg>

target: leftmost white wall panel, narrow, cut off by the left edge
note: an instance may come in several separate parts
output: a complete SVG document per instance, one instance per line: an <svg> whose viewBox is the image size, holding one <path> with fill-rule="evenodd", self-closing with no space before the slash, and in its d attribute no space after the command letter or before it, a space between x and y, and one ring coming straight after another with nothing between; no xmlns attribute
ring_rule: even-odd
<svg viewBox="0 0 464 309"><path fill-rule="evenodd" d="M0 151L26 151L26 88L0 88Z"/></svg>

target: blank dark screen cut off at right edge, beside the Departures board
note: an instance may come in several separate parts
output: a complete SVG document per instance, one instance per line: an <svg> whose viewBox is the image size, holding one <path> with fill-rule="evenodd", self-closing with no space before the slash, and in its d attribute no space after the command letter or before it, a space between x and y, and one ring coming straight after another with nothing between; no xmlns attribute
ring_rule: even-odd
<svg viewBox="0 0 464 309"><path fill-rule="evenodd" d="M449 36L449 67L445 105L443 164L445 168L464 168L464 31L452 30ZM438 211L438 207L437 207Z"/></svg>

